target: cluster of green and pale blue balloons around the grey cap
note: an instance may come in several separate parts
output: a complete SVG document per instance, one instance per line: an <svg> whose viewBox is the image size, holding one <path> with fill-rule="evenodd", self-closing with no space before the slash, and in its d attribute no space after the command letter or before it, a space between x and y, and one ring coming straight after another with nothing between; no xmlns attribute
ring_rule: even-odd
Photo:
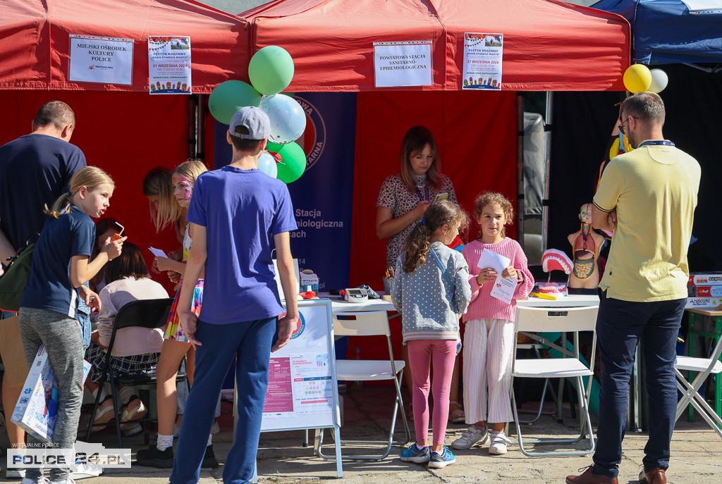
<svg viewBox="0 0 722 484"><path fill-rule="evenodd" d="M268 45L258 50L248 63L248 79L218 84L208 99L208 107L219 123L230 120L241 107L256 106L269 115L269 146L258 159L258 170L283 182L295 182L303 175L306 155L295 141L306 128L306 114L293 97L279 94L291 84L293 59L282 47Z"/></svg>

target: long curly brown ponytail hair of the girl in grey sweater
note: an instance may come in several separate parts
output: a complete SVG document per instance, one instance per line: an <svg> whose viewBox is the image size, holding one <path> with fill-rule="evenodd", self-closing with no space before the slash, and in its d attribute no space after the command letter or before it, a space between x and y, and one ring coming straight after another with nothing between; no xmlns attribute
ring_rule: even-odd
<svg viewBox="0 0 722 484"><path fill-rule="evenodd" d="M444 225L456 224L460 231L469 226L469 216L456 203L440 200L428 206L421 223L414 227L404 242L404 272L412 273L426 262L434 232Z"/></svg>

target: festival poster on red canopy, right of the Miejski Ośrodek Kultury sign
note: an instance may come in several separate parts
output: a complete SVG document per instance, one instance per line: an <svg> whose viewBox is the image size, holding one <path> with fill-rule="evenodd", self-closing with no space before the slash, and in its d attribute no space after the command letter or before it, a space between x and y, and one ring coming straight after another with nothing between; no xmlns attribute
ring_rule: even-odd
<svg viewBox="0 0 722 484"><path fill-rule="evenodd" d="M191 38L148 36L150 94L191 94Z"/></svg>

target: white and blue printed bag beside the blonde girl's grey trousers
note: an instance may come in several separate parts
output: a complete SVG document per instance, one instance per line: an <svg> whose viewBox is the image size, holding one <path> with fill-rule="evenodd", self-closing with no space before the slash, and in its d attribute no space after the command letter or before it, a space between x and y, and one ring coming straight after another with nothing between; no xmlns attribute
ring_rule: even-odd
<svg viewBox="0 0 722 484"><path fill-rule="evenodd" d="M83 379L85 382L90 363L83 360ZM53 367L41 345L30 372L25 379L20 398L10 419L18 427L35 436L36 439L51 444L55 418L58 414L58 390Z"/></svg>

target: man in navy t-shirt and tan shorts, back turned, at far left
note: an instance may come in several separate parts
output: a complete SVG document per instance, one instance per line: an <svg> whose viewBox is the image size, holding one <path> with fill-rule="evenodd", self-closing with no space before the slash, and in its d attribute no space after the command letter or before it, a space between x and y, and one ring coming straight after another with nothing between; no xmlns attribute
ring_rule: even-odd
<svg viewBox="0 0 722 484"><path fill-rule="evenodd" d="M74 172L85 166L85 155L69 143L75 113L61 101L46 102L32 121L32 133L0 146L0 262L14 256L45 224L43 208L69 191ZM1 319L5 316L6 319ZM17 317L0 315L0 354L5 365L2 400L15 407L27 377ZM6 421L12 444L25 443L25 432ZM7 470L7 477L22 471Z"/></svg>

